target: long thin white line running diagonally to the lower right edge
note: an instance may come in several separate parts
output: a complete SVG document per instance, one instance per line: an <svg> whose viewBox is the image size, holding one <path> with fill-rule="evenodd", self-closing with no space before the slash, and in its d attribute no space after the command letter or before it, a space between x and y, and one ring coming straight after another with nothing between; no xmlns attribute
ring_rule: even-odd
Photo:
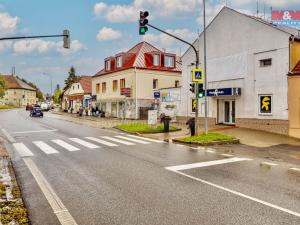
<svg viewBox="0 0 300 225"><path fill-rule="evenodd" d="M211 182L206 181L206 180L202 180L202 179L200 179L200 178L197 178L197 177L194 177L194 176L191 176L191 175L188 175L188 174L185 174L185 173L176 171L176 170L173 170L173 172L174 172L174 173L177 173L177 174L180 174L180 175L182 175L182 176L188 177L188 178L190 178L190 179L199 181L199 182L201 182L201 183L203 183L203 184L207 184L207 185L210 185L210 186L212 186L212 187L218 188L218 189L220 189L220 190L227 191L227 192L229 192L229 193L231 193L231 194L240 196L240 197L242 197L242 198L246 198L246 199L249 199L249 200L251 200L251 201L254 201L254 202L257 202L257 203L260 203L260 204L269 206L269 207L271 207L271 208L280 210L280 211L282 211L282 212L291 214L291 215L293 215L293 216L300 217L300 213L298 213L298 212L295 212L295 211L292 211L292 210L289 210L289 209L286 209L286 208L283 208L283 207L280 207L280 206L277 206L277 205L273 205L273 204L271 204L271 203L269 203L269 202L260 200L260 199L258 199L258 198L254 198L254 197L245 195L245 194L240 193L240 192L238 192L238 191L234 191L234 190L231 190L231 189L229 189L229 188L222 187L222 186L220 186L220 185L211 183Z"/></svg>

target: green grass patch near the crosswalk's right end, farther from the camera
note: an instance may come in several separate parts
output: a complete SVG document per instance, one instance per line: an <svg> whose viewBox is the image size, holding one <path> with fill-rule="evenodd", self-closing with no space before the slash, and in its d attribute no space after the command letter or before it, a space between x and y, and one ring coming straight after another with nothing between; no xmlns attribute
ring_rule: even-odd
<svg viewBox="0 0 300 225"><path fill-rule="evenodd" d="M162 124L157 126L150 126L146 123L132 123L132 124L121 124L116 128L122 129L127 132L138 132L138 133L161 133L164 130ZM170 131L180 130L177 127L170 126Z"/></svg>

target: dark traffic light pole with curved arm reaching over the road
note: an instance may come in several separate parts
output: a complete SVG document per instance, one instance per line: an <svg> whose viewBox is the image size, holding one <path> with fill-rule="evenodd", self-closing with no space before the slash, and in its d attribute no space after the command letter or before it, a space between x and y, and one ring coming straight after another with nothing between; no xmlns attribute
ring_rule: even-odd
<svg viewBox="0 0 300 225"><path fill-rule="evenodd" d="M166 34L168 36L171 36L171 37L173 37L173 38L175 38L175 39L177 39L177 40L179 40L179 41L181 41L181 42L183 42L183 43L191 46L191 48L194 50L195 55L196 55L196 69L199 68L199 55L198 55L198 51L196 50L196 48L195 48L195 46L193 44L191 44L191 43L189 43L189 42L187 42L187 41L185 41L185 40L183 40L183 39L181 39L179 37L176 37L175 35L170 34L170 33L166 32L166 31L164 31L164 30L162 30L162 29L160 29L158 27L155 27L155 26L153 26L153 25L151 25L149 23L147 24L147 26L149 26L149 27L151 27L151 28L153 28L155 30L158 30L158 31L160 31L160 32L162 32L162 33L164 33L164 34ZM206 76L205 76L205 79L206 79ZM205 87L206 87L206 85L205 85ZM195 134L196 135L199 135L199 129L198 129L198 113L199 113L198 89L199 89L198 88L198 83L195 83L195 95L196 95ZM205 91L205 93L206 93L206 91ZM205 96L206 96L205 98L207 98L206 94L205 94Z"/></svg>

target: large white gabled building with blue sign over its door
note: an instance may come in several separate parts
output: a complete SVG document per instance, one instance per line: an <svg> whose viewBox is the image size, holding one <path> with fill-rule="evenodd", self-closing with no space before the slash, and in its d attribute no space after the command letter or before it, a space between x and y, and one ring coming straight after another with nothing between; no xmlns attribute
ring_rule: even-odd
<svg viewBox="0 0 300 225"><path fill-rule="evenodd" d="M299 32L224 7L208 25L206 36L209 123L288 134L287 74L294 66L291 39ZM203 67L203 33L194 45ZM189 48L182 57L183 118L194 116L194 94L189 91L194 62ZM203 99L199 104L204 117Z"/></svg>

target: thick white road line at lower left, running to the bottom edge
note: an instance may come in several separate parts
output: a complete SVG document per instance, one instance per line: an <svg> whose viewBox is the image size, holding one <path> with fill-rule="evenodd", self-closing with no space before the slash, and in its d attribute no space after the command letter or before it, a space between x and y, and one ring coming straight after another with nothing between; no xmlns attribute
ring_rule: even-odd
<svg viewBox="0 0 300 225"><path fill-rule="evenodd" d="M62 225L77 225L76 221L69 213L67 208L64 206L60 198L57 196L55 191L52 189L46 178L39 171L35 163L30 158L23 159L27 165L29 171L33 175L41 191L46 197L49 205L51 206L54 214L57 216L60 224Z"/></svg>

